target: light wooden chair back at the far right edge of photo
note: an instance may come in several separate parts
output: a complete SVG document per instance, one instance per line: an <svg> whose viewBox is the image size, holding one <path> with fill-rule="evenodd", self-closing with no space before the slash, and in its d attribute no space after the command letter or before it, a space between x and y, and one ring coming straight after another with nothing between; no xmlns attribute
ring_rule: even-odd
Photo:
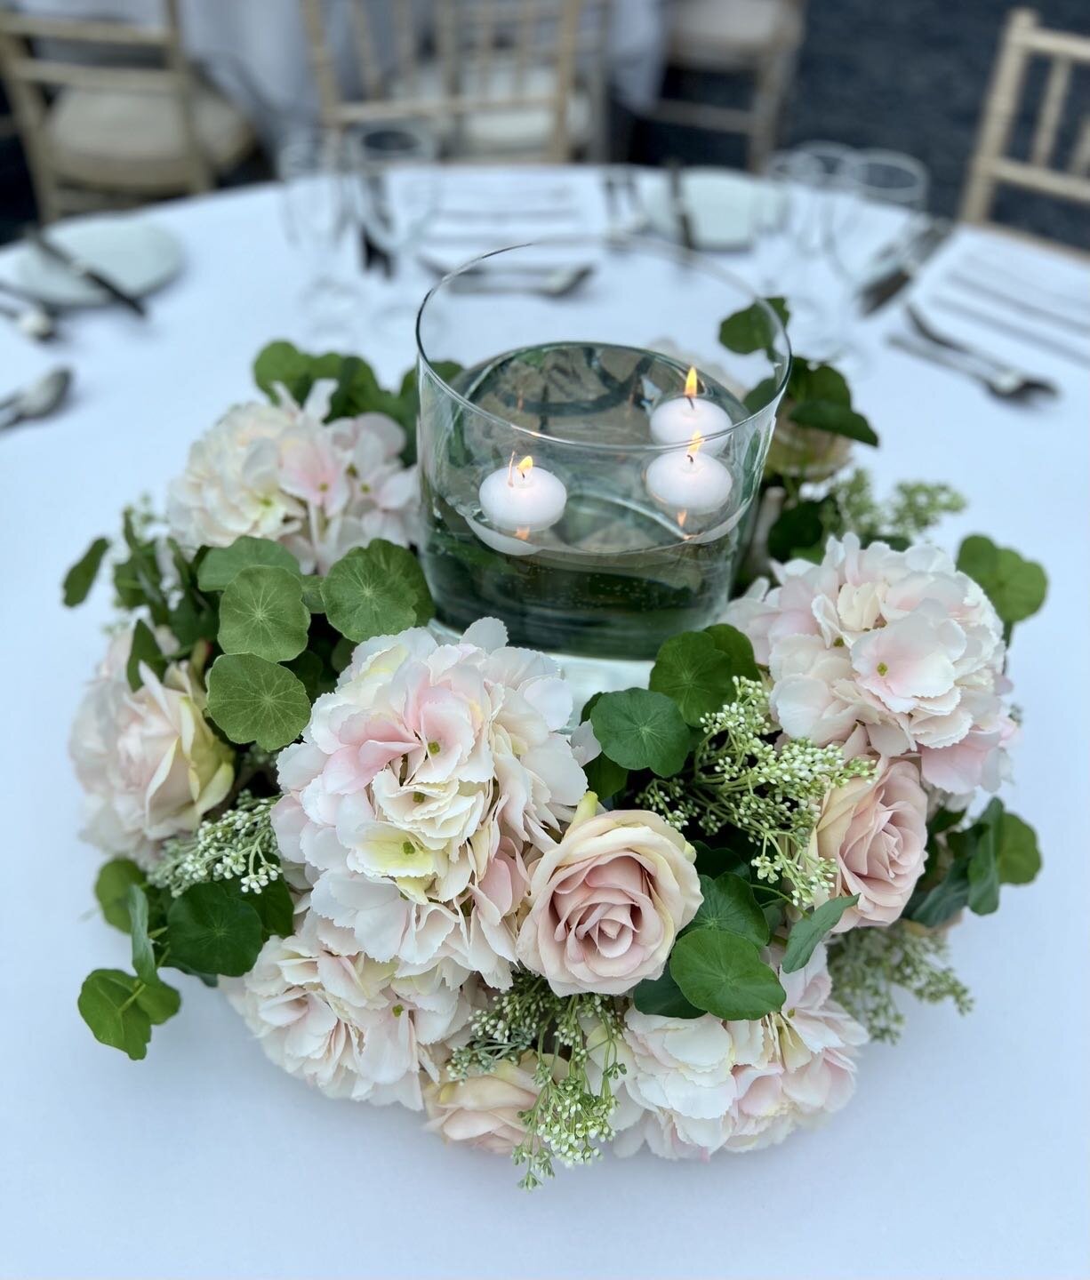
<svg viewBox="0 0 1090 1280"><path fill-rule="evenodd" d="M1048 61L1048 78L1029 157L1017 159L1009 154L1012 133L1027 105L1023 101L1026 73L1035 59ZM1011 12L962 198L961 216L966 221L989 220L999 186L1090 205L1090 127L1086 120L1081 123L1066 166L1055 156L1071 77L1077 67L1090 67L1090 36L1046 31L1032 9Z"/></svg>

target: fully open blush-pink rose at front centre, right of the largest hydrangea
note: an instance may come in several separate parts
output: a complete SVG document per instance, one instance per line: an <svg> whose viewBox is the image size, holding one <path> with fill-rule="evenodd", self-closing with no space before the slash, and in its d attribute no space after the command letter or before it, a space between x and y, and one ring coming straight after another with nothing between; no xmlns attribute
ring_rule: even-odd
<svg viewBox="0 0 1090 1280"><path fill-rule="evenodd" d="M619 996L657 978L701 905L695 852L657 814L594 815L590 792L564 838L534 865L516 951L558 996Z"/></svg>

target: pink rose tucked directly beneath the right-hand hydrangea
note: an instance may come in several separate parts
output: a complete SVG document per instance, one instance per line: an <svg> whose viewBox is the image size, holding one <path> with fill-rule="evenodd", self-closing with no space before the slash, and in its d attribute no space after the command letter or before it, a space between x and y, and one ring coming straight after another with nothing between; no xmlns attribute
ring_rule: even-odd
<svg viewBox="0 0 1090 1280"><path fill-rule="evenodd" d="M880 763L874 777L834 787L811 840L812 851L836 864L836 895L859 895L835 932L890 924L912 896L926 856L927 797L917 765Z"/></svg>

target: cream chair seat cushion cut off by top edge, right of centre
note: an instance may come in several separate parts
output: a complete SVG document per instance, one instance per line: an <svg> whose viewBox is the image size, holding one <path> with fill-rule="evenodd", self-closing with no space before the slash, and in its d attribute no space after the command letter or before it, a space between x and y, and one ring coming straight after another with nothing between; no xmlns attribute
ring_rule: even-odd
<svg viewBox="0 0 1090 1280"><path fill-rule="evenodd" d="M684 67L730 68L802 37L792 0L679 0L671 13L670 60Z"/></svg>

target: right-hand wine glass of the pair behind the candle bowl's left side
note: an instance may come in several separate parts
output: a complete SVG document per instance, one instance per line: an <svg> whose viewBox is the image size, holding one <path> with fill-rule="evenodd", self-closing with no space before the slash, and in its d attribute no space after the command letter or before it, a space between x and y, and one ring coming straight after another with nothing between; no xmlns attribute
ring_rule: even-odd
<svg viewBox="0 0 1090 1280"><path fill-rule="evenodd" d="M420 305L407 269L439 204L435 134L415 120L388 120L354 129L347 138L364 228L386 256L392 297L371 317L396 335L410 335Z"/></svg>

